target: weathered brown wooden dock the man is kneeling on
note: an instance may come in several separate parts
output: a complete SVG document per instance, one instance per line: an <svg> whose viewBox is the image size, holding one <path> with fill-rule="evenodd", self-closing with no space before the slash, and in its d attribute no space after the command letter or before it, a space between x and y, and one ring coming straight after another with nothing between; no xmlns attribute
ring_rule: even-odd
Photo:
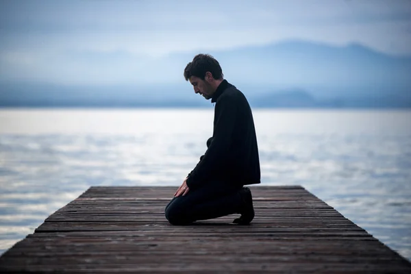
<svg viewBox="0 0 411 274"><path fill-rule="evenodd" d="M251 187L249 226L173 226L175 187L92 187L0 258L0 273L411 273L411 263L300 186Z"/></svg>

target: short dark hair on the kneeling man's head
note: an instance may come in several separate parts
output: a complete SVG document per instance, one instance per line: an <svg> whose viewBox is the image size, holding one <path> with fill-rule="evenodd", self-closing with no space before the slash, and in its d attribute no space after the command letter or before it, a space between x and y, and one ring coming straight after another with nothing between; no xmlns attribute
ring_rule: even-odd
<svg viewBox="0 0 411 274"><path fill-rule="evenodd" d="M206 77L206 72L210 71L214 79L222 79L224 77L221 66L217 60L210 54L197 54L192 62L189 62L184 69L184 77L186 81L191 76L196 76L201 79Z"/></svg>

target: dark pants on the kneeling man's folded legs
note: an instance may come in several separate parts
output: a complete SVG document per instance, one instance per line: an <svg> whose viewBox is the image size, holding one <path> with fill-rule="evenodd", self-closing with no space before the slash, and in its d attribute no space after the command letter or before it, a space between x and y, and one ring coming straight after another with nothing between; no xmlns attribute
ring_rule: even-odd
<svg viewBox="0 0 411 274"><path fill-rule="evenodd" d="M166 219L173 225L186 225L238 213L242 205L240 189L225 182L208 182L185 196L174 197L166 206Z"/></svg>

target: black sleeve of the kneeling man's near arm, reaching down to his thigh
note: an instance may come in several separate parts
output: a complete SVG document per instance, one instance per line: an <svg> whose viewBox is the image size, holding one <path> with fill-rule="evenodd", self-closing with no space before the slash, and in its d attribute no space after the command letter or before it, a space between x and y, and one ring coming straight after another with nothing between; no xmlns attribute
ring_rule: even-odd
<svg viewBox="0 0 411 274"><path fill-rule="evenodd" d="M224 169L238 115L236 97L224 97L216 103L216 124L210 147L187 179L187 186L195 189L213 173Z"/></svg>

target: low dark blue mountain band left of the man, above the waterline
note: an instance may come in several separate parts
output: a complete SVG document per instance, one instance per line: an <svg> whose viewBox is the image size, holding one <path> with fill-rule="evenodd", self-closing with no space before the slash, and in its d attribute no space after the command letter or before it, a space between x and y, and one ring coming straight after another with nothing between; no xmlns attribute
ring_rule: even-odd
<svg viewBox="0 0 411 274"><path fill-rule="evenodd" d="M201 107L210 105L194 92L173 97L179 86L59 86L38 83L0 83L1 107L141 108ZM178 93L178 92L177 92Z"/></svg>

